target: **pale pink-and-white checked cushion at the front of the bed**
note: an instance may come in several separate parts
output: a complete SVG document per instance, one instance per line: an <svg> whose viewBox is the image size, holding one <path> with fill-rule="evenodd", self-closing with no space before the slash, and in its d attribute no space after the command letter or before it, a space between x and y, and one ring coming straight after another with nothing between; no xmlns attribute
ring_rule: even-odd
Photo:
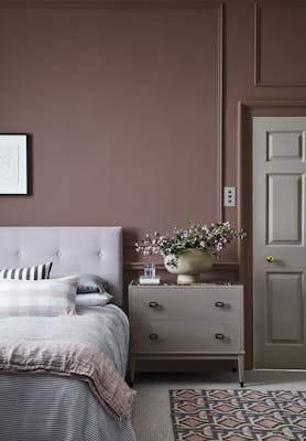
<svg viewBox="0 0 306 441"><path fill-rule="evenodd" d="M76 277L0 280L0 316L75 314Z"/></svg>

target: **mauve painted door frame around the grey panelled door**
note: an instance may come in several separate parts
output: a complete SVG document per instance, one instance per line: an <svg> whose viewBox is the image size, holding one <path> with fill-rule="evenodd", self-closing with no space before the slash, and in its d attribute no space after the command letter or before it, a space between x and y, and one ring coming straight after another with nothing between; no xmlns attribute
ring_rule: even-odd
<svg viewBox="0 0 306 441"><path fill-rule="evenodd" d="M245 368L253 368L253 117L306 117L305 99L254 99L238 101L237 217L248 233L238 244L240 281L244 286Z"/></svg>

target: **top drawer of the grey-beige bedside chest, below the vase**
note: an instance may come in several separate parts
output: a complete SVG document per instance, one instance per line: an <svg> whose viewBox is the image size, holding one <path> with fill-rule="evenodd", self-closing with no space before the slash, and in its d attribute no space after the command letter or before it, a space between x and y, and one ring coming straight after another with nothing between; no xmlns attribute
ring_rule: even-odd
<svg viewBox="0 0 306 441"><path fill-rule="evenodd" d="M238 320L242 309L242 287L130 287L132 320Z"/></svg>

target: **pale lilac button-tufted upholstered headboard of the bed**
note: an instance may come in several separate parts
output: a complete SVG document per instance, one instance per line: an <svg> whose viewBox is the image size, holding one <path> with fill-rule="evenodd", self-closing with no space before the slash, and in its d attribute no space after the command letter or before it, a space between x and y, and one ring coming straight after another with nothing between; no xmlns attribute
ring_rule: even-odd
<svg viewBox="0 0 306 441"><path fill-rule="evenodd" d="M90 272L122 305L122 227L0 227L0 268L52 260L52 275Z"/></svg>

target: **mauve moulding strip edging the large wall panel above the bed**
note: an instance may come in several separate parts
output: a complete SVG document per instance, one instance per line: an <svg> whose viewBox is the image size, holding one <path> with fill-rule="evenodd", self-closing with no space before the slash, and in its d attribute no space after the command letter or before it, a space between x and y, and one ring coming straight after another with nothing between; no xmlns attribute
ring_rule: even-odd
<svg viewBox="0 0 306 441"><path fill-rule="evenodd" d="M190 17L193 11L194 18L198 23L198 20L204 19L203 25L203 34L208 32L209 41L212 41L212 45L209 44L207 47L207 40L204 39L200 44L203 45L201 53L207 52L211 56L214 62L214 80L211 84L211 90L214 90L214 109L216 109L216 118L214 115L214 126L211 128L211 133L214 136L214 143L216 142L216 148L211 149L214 151L214 162L216 164L216 173L214 175L214 218L217 222L222 220L222 166L223 166L223 30L225 30L225 3L221 1L205 1L205 0L139 0L139 1L122 1L122 0L111 0L111 1L85 1L85 0L74 0L74 1L62 1L62 0L0 0L0 9L6 9L7 11L17 11L19 14L28 13L28 15L32 12L32 10L37 13L37 11L42 12L42 15L45 10L45 14L47 13L47 9L52 9L54 13L58 10L65 10L68 13L69 10L74 11L95 11L99 10L100 15L103 14L102 10L106 10L107 13L116 13L116 10L124 11L124 13L133 14L133 9L136 11L141 11L141 13L145 14L152 12L152 17L157 17L156 10L164 11L165 17L173 15L179 17L179 11L188 11L190 12ZM130 10L130 11L129 11ZM25 12L24 12L25 11ZM121 13L120 11L120 13ZM197 14L198 11L198 14ZM135 13L135 17L140 14ZM161 14L159 14L160 17ZM212 18L212 20L211 20ZM97 20L97 18L95 18ZM207 26L209 23L209 26ZM215 53L214 53L215 52ZM210 63L210 62L209 62ZM207 67L208 68L208 67ZM211 64L210 64L210 67ZM217 79L215 82L215 79ZM207 78L203 75L203 82L207 83ZM210 85L209 85L210 86ZM207 87L207 86L206 86ZM212 93L211 93L212 94ZM199 104L198 107L205 108L206 104ZM204 116L205 118L205 116ZM200 131L199 131L200 132ZM215 141L216 139L216 141ZM203 137L200 142L200 148L203 151L206 149L206 139ZM215 165L214 165L215 166Z"/></svg>

